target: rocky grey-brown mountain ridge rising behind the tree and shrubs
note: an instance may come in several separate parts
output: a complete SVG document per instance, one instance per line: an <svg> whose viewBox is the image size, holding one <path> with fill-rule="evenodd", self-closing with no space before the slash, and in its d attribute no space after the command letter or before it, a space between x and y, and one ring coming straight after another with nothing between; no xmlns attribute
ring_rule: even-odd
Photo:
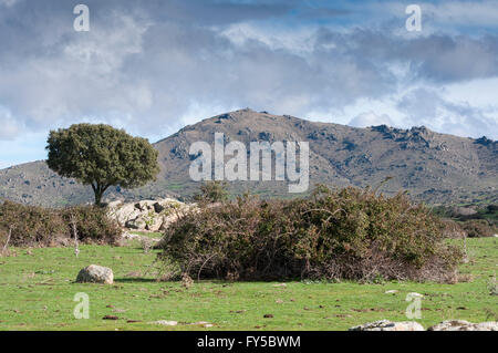
<svg viewBox="0 0 498 353"><path fill-rule="evenodd" d="M428 128L385 125L355 128L317 123L249 108L217 115L154 144L162 172L157 181L136 190L111 189L107 199L188 198L198 184L189 177L194 156L189 146L214 143L309 142L310 185L372 186L393 194L408 190L412 198L430 204L496 203L498 199L498 142L438 134ZM386 177L392 177L382 184ZM291 197L284 181L238 181L232 193L250 190L263 197ZM90 187L52 173L43 160L0 170L0 198L31 205L65 206L90 203Z"/></svg>

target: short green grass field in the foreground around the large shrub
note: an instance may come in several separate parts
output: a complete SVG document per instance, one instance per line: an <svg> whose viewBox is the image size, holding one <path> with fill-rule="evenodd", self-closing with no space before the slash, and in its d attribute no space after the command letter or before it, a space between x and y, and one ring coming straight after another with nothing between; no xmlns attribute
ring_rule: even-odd
<svg viewBox="0 0 498 353"><path fill-rule="evenodd" d="M138 242L84 246L77 259L72 248L11 249L17 256L0 258L0 330L347 330L380 319L407 320L408 292L424 294L417 321L425 328L447 319L497 320L498 297L490 295L489 284L498 239L469 239L468 246L470 262L460 272L470 279L457 284L201 281L189 289L144 274L156 253L144 253ZM91 263L111 267L115 283L74 283ZM74 319L79 292L90 297L87 320ZM151 323L158 320L178 325ZM214 326L193 324L200 321Z"/></svg>

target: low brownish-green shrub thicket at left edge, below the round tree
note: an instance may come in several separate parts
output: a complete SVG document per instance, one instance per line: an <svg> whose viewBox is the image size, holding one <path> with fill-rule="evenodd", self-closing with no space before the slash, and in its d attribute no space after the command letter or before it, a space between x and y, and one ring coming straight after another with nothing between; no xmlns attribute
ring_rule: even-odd
<svg viewBox="0 0 498 353"><path fill-rule="evenodd" d="M121 235L118 225L98 207L49 209L4 201L0 205L0 237L6 238L12 229L10 246L65 245L73 238L72 219L83 242L115 243Z"/></svg>

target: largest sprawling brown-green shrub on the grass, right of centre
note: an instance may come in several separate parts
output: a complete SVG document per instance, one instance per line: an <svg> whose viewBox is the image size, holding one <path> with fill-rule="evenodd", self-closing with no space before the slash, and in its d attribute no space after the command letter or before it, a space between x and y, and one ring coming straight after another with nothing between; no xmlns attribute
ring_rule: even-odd
<svg viewBox="0 0 498 353"><path fill-rule="evenodd" d="M159 259L193 278L450 280L461 252L400 194L319 187L308 199L239 197L173 224Z"/></svg>

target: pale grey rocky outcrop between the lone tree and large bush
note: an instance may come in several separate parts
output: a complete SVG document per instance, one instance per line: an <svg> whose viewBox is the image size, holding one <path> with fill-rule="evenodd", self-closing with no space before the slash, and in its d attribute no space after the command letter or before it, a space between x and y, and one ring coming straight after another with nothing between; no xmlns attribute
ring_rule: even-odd
<svg viewBox="0 0 498 353"><path fill-rule="evenodd" d="M132 204L114 201L108 204L108 215L127 229L162 231L193 207L173 198Z"/></svg>

